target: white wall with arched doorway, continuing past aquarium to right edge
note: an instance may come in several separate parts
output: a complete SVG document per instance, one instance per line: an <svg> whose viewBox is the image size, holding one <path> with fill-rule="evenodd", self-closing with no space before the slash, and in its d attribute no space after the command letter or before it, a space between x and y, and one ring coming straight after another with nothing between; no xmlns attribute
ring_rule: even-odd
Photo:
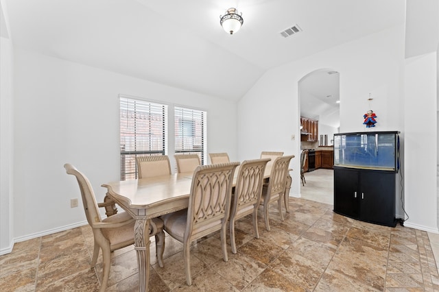
<svg viewBox="0 0 439 292"><path fill-rule="evenodd" d="M239 156L270 149L298 158L300 143L289 140L298 134L297 83L311 71L333 68L340 72L340 132L366 131L363 114L370 107L378 121L373 130L401 131L404 189L397 186L396 217L405 218L405 201L406 226L438 232L436 59L405 64L404 33L401 25L268 71L239 101ZM300 169L298 159L292 168ZM300 196L300 172L292 176L290 195Z"/></svg>

